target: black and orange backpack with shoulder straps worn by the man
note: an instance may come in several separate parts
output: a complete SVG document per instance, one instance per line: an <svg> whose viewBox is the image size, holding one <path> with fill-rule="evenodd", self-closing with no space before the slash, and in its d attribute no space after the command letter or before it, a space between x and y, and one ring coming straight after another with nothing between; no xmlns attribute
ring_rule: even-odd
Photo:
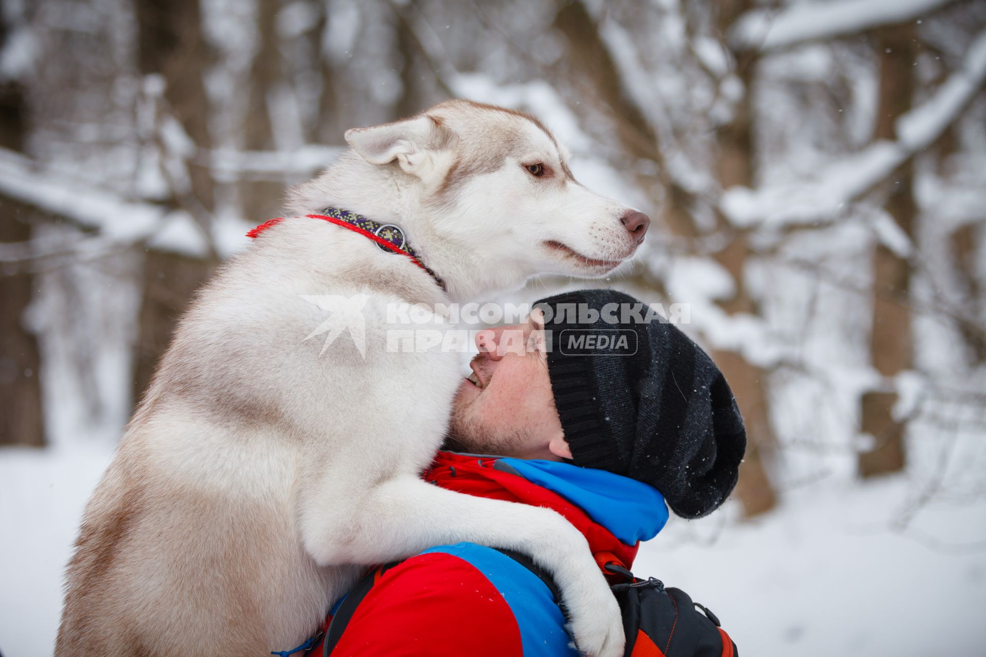
<svg viewBox="0 0 986 657"><path fill-rule="evenodd" d="M510 550L498 552L513 558L537 575L551 591L555 603L560 605L558 586L547 572L525 555ZM331 654L356 608L373 588L380 573L395 564L388 563L370 572L346 596L325 630L323 657ZM665 588L664 583L654 577L638 579L632 572L614 563L606 565L606 570L624 580L610 587L623 613L623 629L626 632L624 657L739 657L736 643L719 626L716 615L692 602L681 589ZM564 612L564 605L560 606Z"/></svg>

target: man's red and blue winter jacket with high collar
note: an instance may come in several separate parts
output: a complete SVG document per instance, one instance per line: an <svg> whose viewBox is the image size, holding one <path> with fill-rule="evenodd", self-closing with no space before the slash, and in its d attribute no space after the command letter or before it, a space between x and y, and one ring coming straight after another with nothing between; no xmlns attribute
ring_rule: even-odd
<svg viewBox="0 0 986 657"><path fill-rule="evenodd" d="M630 567L639 541L668 519L664 498L653 488L562 463L440 452L425 479L459 493L554 509L586 536L600 567L613 561ZM387 569L356 608L332 657L576 655L564 624L547 586L527 568L495 550L460 543ZM305 654L320 650L319 642Z"/></svg>

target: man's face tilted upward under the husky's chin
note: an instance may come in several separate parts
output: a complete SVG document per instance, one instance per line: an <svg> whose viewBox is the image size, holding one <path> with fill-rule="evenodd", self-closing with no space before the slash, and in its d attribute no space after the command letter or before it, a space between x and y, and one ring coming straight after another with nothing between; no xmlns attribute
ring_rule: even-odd
<svg viewBox="0 0 986 657"><path fill-rule="evenodd" d="M540 314L476 334L479 354L454 402L447 446L475 454L572 458L548 378Z"/></svg>

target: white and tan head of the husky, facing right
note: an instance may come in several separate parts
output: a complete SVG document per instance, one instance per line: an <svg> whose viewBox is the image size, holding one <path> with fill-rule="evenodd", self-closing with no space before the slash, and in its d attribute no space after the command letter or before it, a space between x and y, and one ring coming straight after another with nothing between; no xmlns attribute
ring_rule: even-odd
<svg viewBox="0 0 986 657"><path fill-rule="evenodd" d="M566 149L525 113L449 100L348 130L346 141L364 163L390 174L399 191L377 193L399 203L391 216L405 222L450 292L513 289L537 273L604 276L634 254L650 223L579 183ZM341 190L324 197L328 187L303 186L296 206L312 212L337 201Z"/></svg>

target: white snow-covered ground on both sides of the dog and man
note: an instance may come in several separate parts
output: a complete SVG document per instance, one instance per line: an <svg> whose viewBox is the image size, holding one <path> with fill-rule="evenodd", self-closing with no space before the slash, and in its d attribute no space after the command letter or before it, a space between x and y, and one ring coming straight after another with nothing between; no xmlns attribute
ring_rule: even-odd
<svg viewBox="0 0 986 657"><path fill-rule="evenodd" d="M106 450L0 450L0 651L50 654L61 578ZM822 481L777 511L734 507L668 528L635 570L710 607L749 656L974 657L986 646L986 500L931 505L904 534L900 476ZM964 547L963 547L964 546Z"/></svg>

